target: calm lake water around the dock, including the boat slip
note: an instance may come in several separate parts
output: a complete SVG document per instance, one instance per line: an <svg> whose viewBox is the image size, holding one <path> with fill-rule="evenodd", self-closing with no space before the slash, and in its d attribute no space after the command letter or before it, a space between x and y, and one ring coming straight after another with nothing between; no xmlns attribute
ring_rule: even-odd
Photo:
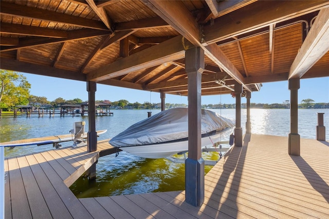
<svg viewBox="0 0 329 219"><path fill-rule="evenodd" d="M222 116L235 118L234 109L214 109ZM148 110L114 110L114 116L96 117L96 130L107 129L98 138L109 139L125 130L128 126L147 118ZM152 115L160 112L152 109ZM329 109L299 109L299 134L301 138L315 139L317 113L324 114L326 139L329 139ZM288 136L290 132L289 109L251 109L251 129L254 134ZM76 121L85 121L88 131L88 117L3 117L0 119L0 141L12 141L59 134L69 134ZM242 111L242 127L245 131L246 110ZM62 143L69 147L72 142ZM5 156L29 154L53 150L52 145L16 147L5 149ZM217 159L217 153L204 153L206 159ZM211 169L206 166L206 172ZM158 191L175 191L185 189L185 167L167 159L145 159L125 152L118 157L109 155L101 157L97 163L97 179L89 181L81 177L70 189L78 197L108 196L119 194L137 194Z"/></svg>

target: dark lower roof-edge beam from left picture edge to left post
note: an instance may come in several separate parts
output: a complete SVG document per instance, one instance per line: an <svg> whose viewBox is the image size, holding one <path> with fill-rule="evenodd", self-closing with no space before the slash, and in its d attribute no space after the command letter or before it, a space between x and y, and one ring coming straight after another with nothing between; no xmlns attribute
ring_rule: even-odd
<svg viewBox="0 0 329 219"><path fill-rule="evenodd" d="M54 68L46 65L20 62L14 59L8 59L3 57L0 57L0 68L19 72L26 72L34 75L86 81L86 75L80 72Z"/></svg>

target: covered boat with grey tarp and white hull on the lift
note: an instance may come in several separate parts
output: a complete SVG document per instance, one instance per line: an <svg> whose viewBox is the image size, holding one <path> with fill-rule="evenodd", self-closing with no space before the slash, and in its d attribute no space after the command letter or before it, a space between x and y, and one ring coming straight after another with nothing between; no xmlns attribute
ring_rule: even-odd
<svg viewBox="0 0 329 219"><path fill-rule="evenodd" d="M202 148L227 138L235 121L202 109ZM128 127L109 140L122 151L144 158L163 158L188 151L188 108L162 111Z"/></svg>

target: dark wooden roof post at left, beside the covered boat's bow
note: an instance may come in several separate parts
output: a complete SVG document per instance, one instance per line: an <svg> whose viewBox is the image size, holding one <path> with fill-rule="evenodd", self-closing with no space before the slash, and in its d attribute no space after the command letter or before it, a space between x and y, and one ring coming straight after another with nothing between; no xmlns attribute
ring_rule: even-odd
<svg viewBox="0 0 329 219"><path fill-rule="evenodd" d="M88 92L88 125L89 131L87 133L87 151L93 152L97 150L97 132L96 132L96 110L95 110L95 93L96 82L87 81Z"/></svg>

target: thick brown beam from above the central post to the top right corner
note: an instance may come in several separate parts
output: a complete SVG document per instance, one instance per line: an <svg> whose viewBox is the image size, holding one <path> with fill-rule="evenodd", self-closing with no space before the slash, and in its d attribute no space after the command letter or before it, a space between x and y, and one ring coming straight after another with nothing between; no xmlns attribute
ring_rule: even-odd
<svg viewBox="0 0 329 219"><path fill-rule="evenodd" d="M327 5L329 1L257 1L223 15L217 21L215 19L213 25L205 25L205 41L208 44L216 43L273 23L317 11Z"/></svg>

